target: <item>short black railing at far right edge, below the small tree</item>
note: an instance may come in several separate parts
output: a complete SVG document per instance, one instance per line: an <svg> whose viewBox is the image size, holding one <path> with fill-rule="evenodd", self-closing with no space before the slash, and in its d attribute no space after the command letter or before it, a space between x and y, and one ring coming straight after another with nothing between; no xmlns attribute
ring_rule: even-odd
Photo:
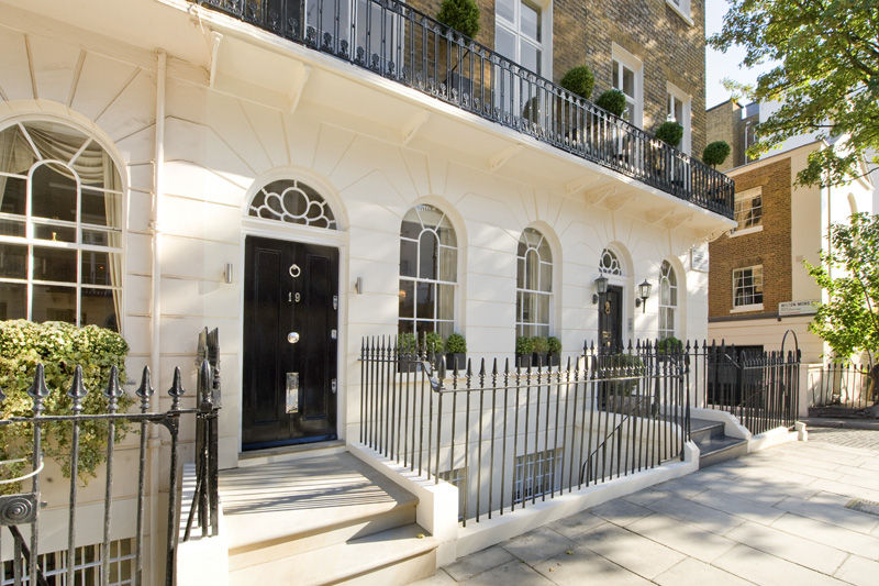
<svg viewBox="0 0 879 586"><path fill-rule="evenodd" d="M809 369L810 408L858 413L879 405L879 367L832 362Z"/></svg>

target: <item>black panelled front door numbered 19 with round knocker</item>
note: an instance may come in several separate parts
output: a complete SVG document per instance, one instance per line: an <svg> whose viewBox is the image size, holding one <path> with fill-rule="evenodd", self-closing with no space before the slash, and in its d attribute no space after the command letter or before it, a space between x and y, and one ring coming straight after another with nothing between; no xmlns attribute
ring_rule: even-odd
<svg viewBox="0 0 879 586"><path fill-rule="evenodd" d="M247 236L242 447L336 438L338 251Z"/></svg>

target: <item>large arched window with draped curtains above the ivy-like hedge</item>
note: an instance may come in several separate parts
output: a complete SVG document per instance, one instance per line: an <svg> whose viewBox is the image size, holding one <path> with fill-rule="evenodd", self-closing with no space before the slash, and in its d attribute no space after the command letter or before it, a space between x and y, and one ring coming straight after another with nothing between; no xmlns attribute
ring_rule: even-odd
<svg viewBox="0 0 879 586"><path fill-rule="evenodd" d="M122 180L90 135L60 122L0 131L0 320L119 330Z"/></svg>

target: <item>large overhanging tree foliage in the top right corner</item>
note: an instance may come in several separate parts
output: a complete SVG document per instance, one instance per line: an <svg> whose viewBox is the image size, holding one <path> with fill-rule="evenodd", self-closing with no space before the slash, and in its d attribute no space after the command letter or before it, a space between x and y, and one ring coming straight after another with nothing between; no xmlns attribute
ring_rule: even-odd
<svg viewBox="0 0 879 586"><path fill-rule="evenodd" d="M839 185L863 175L861 157L879 164L879 7L876 0L731 0L716 49L741 45L745 67L774 67L745 88L780 109L759 124L750 153L817 133L841 148L809 157L801 185Z"/></svg>

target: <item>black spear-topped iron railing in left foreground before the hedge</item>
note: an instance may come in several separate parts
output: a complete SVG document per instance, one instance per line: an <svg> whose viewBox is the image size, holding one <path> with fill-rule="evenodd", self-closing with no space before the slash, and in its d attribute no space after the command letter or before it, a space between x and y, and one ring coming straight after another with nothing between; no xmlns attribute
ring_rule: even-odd
<svg viewBox="0 0 879 586"><path fill-rule="evenodd" d="M215 336L215 334L214 334ZM170 453L169 464L165 469L169 482L168 489L168 510L167 510L167 540L165 543L165 551L153 552L153 555L165 556L165 584L171 586L174 584L175 572L175 556L178 543L178 518L180 515L180 427L187 420L194 420L196 424L196 467L197 467L197 489L192 504L192 511L198 511L197 519L191 513L186 524L186 539L189 538L192 524L197 523L201 529L202 535L215 535L218 533L218 515L219 515L219 500L218 500L218 412L220 409L220 388L215 384L216 365L209 364L205 360L201 363L198 375L198 391L196 396L196 407L182 408L180 405L185 396L185 389L181 384L181 375L179 367L175 369L174 383L168 389L168 395L171 398L171 407L167 411L153 410L153 400L155 390L151 380L151 373L148 367L144 367L141 378L140 387L136 390L137 399L140 399L140 413L133 412L119 412L120 398L124 391L118 379L119 373L116 367L113 366L109 373L109 384L103 389L103 395L107 399L107 410L102 413L82 413L82 401L89 394L82 385L82 369L77 366L70 388L66 395L70 400L71 409L69 414L46 414L45 405L51 395L63 395L62 389L49 389L46 387L43 365L36 367L34 374L33 385L27 391L32 406L32 416L29 417L12 417L9 419L0 419L0 428L8 425L25 425L33 430L33 443L26 452L32 456L26 458L30 462L30 472L22 474L16 478L3 478L3 484L7 486L18 486L16 494L8 494L0 496L0 529L7 527L13 538L13 556L10 562L3 563L3 572L5 574L7 566L11 566L13 584L16 586L21 584L48 584L47 575L48 570L53 570L52 574L56 577L52 578L54 584L55 579L60 581L56 567L45 568L41 566L40 560L46 559L46 555L41 548L40 542L40 517L41 517L41 473L44 468L44 455L41 447L44 441L45 433L51 430L52 433L67 433L69 430L69 439L65 435L63 441L69 442L69 497L66 502L67 508L67 550L64 552L65 561L62 562L66 570L64 572L64 584L79 584L81 581L88 579L89 583L107 585L110 583L111 570L111 534L113 527L112 519L112 505L113 505L113 482L115 476L115 462L114 451L116 443L116 429L124 428L127 433L140 434L140 449L138 449L138 469L137 469L137 513L136 513L136 529L133 537L133 567L131 568L131 583L135 586L144 584L143 582L143 564L144 556L144 532L146 526L145 517L145 500L151 498L145 494L146 491L146 469L147 469L147 436L151 428L158 427L167 431L170 435ZM0 392L0 402L5 397ZM107 452L105 452L105 467L104 467L104 491L103 491L103 539L99 545L100 552L100 566L97 568L78 570L78 564L81 560L77 559L77 551L81 546L77 544L77 515L79 511L79 482L78 482L78 465L82 454L80 453L80 431L88 430L89 427L107 425ZM56 441L60 441L57 440ZM16 446L5 446L10 450ZM22 446L18 446L22 447ZM12 461L3 462L9 464ZM14 461L18 462L18 461ZM133 474L132 469L124 469L123 474ZM30 491L24 491L30 487ZM155 502L155 501L154 501ZM153 506L156 506L155 504ZM123 521L124 523L124 521ZM30 535L22 534L21 528L27 528ZM159 532L159 529L153 527L149 529L151 533ZM0 534L2 531L0 531ZM86 578L85 572L89 572L92 577ZM121 572L116 568L115 572ZM3 575L5 578L5 575ZM123 579L120 576L119 579ZM113 578L115 579L115 578ZM158 584L159 581L155 579L154 583ZM58 582L60 584L62 582ZM85 584L85 582L82 582Z"/></svg>

